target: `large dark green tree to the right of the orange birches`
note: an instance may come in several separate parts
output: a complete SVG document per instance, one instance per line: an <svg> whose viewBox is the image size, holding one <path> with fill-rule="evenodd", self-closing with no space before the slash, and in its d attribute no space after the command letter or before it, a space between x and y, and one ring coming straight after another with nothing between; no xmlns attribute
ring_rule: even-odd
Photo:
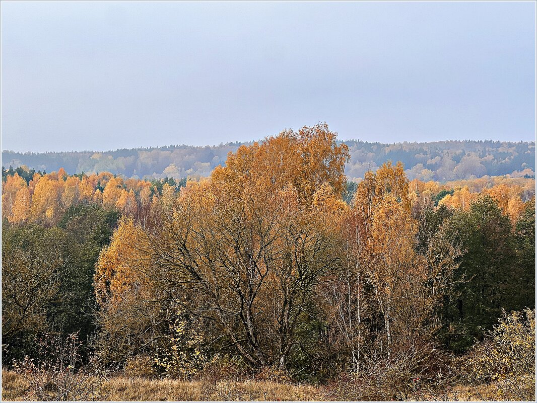
<svg viewBox="0 0 537 403"><path fill-rule="evenodd" d="M447 227L465 250L456 273L464 281L444 311L448 346L463 351L492 329L502 309L517 308L521 273L513 265L510 219L489 195L478 196L467 209L461 206Z"/></svg>

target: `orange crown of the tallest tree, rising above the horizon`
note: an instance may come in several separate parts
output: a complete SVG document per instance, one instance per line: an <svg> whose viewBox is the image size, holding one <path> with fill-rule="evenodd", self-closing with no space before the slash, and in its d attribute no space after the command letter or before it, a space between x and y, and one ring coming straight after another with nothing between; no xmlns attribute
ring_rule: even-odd
<svg viewBox="0 0 537 403"><path fill-rule="evenodd" d="M292 186L301 200L310 202L324 182L336 195L343 192L348 159L347 146L337 145L336 134L326 124L317 124L298 133L282 131L262 144L242 145L235 154L229 153L226 166L215 168L211 178L220 186L265 187L272 192Z"/></svg>

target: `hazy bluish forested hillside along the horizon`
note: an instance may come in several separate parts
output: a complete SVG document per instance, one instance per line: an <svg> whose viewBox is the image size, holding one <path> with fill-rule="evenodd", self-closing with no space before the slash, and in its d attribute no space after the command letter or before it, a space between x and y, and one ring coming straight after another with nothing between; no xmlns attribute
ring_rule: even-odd
<svg viewBox="0 0 537 403"><path fill-rule="evenodd" d="M535 142L440 141L431 143L369 143L344 141L351 160L345 173L360 180L364 173L390 159L402 161L409 179L447 181L480 178L484 175L535 175ZM111 172L126 177L186 178L208 176L214 167L226 163L228 152L243 143L216 146L170 145L157 148L93 152L19 153L2 151L2 165L26 165L35 170L67 173ZM250 144L250 143L244 143Z"/></svg>

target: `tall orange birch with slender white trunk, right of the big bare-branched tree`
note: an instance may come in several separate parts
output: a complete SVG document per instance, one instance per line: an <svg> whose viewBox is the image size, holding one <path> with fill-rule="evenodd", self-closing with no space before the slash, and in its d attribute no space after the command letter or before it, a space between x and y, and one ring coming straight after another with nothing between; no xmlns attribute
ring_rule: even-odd
<svg viewBox="0 0 537 403"><path fill-rule="evenodd" d="M425 184L413 181L412 185L415 199L427 193ZM356 287L371 289L369 302L384 320L388 356L392 343L402 342L405 334L423 326L430 313L422 309L432 291L425 285L427 260L416 252L418 222L410 213L408 194L401 163L366 172L342 226L357 273L364 273L364 284Z"/></svg>

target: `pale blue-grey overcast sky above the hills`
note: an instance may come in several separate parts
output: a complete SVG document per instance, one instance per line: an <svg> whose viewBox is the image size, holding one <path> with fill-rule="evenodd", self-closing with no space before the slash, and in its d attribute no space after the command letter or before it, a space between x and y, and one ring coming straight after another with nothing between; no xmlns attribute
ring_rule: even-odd
<svg viewBox="0 0 537 403"><path fill-rule="evenodd" d="M535 140L534 2L1 3L2 149Z"/></svg>

